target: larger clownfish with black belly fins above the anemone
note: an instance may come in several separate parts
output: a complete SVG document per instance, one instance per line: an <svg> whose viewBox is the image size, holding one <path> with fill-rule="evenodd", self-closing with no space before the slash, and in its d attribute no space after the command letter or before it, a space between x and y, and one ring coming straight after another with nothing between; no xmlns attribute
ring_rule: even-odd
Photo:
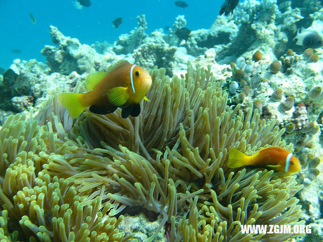
<svg viewBox="0 0 323 242"><path fill-rule="evenodd" d="M79 116L86 107L97 114L122 109L122 117L136 117L140 113L139 102L149 101L145 96L151 86L149 73L122 59L110 66L106 72L89 74L85 80L87 93L62 93L59 100L72 118Z"/></svg>

